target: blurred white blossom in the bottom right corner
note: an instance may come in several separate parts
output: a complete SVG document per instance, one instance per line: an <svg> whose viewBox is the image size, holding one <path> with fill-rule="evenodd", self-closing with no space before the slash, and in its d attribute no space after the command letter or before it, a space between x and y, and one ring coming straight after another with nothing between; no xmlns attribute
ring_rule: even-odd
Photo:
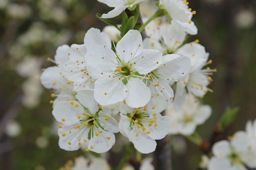
<svg viewBox="0 0 256 170"><path fill-rule="evenodd" d="M236 132L230 142L223 140L215 143L208 170L247 170L245 166L256 168L256 152L250 149L248 143L244 131Z"/></svg>

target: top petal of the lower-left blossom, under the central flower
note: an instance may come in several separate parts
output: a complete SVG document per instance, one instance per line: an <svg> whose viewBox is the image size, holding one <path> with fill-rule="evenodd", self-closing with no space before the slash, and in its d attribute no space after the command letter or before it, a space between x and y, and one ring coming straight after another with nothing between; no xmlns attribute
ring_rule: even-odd
<svg viewBox="0 0 256 170"><path fill-rule="evenodd" d="M98 102L94 99L93 94L93 90L79 90L76 94L76 98L84 107L88 108L91 113L96 113L98 111Z"/></svg>

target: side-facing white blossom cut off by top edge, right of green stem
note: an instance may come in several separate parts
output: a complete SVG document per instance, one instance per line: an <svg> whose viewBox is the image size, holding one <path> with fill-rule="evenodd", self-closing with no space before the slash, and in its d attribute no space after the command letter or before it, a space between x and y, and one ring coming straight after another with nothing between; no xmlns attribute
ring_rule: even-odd
<svg viewBox="0 0 256 170"><path fill-rule="evenodd" d="M186 0L162 0L166 10L172 17L172 21L178 23L184 31L191 35L197 34L197 27L193 21L191 21L193 14L191 8L188 8L188 2Z"/></svg>

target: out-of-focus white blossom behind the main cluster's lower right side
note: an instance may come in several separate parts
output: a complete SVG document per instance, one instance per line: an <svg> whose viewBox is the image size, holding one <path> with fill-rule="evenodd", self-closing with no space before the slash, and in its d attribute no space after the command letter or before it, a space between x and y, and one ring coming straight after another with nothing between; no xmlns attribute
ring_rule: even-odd
<svg viewBox="0 0 256 170"><path fill-rule="evenodd" d="M170 104L165 111L172 120L170 134L192 135L196 126L203 124L212 113L210 106L200 106L190 95L186 95L183 102L184 105L179 111L175 111L174 104Z"/></svg>

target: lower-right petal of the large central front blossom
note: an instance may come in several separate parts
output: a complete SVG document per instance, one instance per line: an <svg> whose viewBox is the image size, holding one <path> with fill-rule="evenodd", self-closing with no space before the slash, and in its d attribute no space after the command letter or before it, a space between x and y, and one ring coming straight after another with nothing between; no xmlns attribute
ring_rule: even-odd
<svg viewBox="0 0 256 170"><path fill-rule="evenodd" d="M137 108L145 106L150 100L150 89L139 78L130 78L125 97L126 104Z"/></svg>

